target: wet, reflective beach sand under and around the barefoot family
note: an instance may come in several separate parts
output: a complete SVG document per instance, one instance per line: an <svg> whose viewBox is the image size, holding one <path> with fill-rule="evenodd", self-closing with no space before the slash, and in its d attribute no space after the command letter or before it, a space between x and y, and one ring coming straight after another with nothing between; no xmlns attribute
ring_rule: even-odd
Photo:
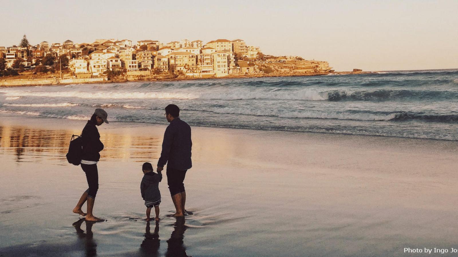
<svg viewBox="0 0 458 257"><path fill-rule="evenodd" d="M156 167L165 125L104 124L94 213L107 221L87 224L71 213L87 188L84 173L65 160L84 124L0 116L0 256L423 256L404 248L458 248L457 142L193 127L185 186L194 214L165 217L174 208L164 178L162 220L147 224L141 165Z"/></svg>

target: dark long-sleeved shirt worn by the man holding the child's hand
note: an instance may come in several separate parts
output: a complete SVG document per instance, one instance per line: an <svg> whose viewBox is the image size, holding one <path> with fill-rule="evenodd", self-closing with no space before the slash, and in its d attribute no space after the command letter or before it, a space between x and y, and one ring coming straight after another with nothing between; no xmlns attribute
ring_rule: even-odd
<svg viewBox="0 0 458 257"><path fill-rule="evenodd" d="M168 161L167 167L181 171L190 169L191 147L191 127L180 118L174 118L165 129L158 167L164 167Z"/></svg>

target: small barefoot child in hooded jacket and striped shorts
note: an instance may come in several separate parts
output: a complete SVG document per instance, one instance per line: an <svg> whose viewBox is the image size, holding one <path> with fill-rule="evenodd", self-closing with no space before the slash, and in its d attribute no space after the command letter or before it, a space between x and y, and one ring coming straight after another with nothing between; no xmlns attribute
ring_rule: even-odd
<svg viewBox="0 0 458 257"><path fill-rule="evenodd" d="M159 221L159 203L161 203L161 192L159 191L159 182L162 181L162 172L153 172L153 166L149 162L143 163L143 179L140 184L140 191L142 192L142 198L145 200L146 209L146 220L151 220L149 215L151 208L154 206L156 212L156 221Z"/></svg>

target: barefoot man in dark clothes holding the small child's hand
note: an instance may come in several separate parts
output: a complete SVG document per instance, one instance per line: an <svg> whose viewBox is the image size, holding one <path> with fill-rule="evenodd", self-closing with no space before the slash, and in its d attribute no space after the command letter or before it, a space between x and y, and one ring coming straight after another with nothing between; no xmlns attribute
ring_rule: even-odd
<svg viewBox="0 0 458 257"><path fill-rule="evenodd" d="M172 217L182 217L185 214L186 192L185 180L186 171L191 169L191 127L182 121L180 108L174 104L165 107L165 118L170 123L165 129L162 142L161 157L158 161L158 171L164 169L167 163L167 184L170 195L175 205L175 214Z"/></svg>

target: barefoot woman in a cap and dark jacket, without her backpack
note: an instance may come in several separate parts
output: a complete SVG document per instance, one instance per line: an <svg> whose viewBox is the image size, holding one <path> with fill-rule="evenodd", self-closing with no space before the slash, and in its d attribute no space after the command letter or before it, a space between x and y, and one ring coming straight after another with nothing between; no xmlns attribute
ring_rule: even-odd
<svg viewBox="0 0 458 257"><path fill-rule="evenodd" d="M87 121L81 133L82 139L82 156L81 168L86 173L87 184L89 188L82 194L80 200L76 204L74 213L86 216L87 221L104 221L95 217L92 213L94 208L95 196L98 190L98 171L97 162L100 159L99 152L104 149L104 144L100 141L100 134L96 126L102 125L104 122L108 123L107 112L103 109L95 109L91 119ZM87 214L85 214L81 207L87 200Z"/></svg>

